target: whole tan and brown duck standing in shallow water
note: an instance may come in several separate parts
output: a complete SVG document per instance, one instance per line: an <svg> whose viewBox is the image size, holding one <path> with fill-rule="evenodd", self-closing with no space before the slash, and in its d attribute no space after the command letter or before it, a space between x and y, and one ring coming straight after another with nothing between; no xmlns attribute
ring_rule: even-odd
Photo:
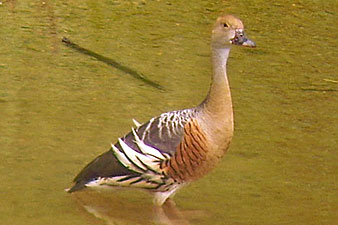
<svg viewBox="0 0 338 225"><path fill-rule="evenodd" d="M157 206L210 172L227 152L234 133L227 60L232 46L255 47L242 21L217 18L211 34L211 85L193 108L165 112L135 127L74 178L69 193L85 188L129 187L149 191Z"/></svg>

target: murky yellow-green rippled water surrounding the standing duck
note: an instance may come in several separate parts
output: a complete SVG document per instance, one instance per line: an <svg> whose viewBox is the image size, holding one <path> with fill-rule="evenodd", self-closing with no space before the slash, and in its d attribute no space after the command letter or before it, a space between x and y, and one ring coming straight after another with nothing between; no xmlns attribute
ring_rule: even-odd
<svg viewBox="0 0 338 225"><path fill-rule="evenodd" d="M203 99L211 24L223 12L244 21L258 48L231 53L234 141L217 169L175 196L182 221L335 224L335 0L1 1L0 223L156 223L143 192L63 189L131 118ZM164 89L65 46L63 36Z"/></svg>

